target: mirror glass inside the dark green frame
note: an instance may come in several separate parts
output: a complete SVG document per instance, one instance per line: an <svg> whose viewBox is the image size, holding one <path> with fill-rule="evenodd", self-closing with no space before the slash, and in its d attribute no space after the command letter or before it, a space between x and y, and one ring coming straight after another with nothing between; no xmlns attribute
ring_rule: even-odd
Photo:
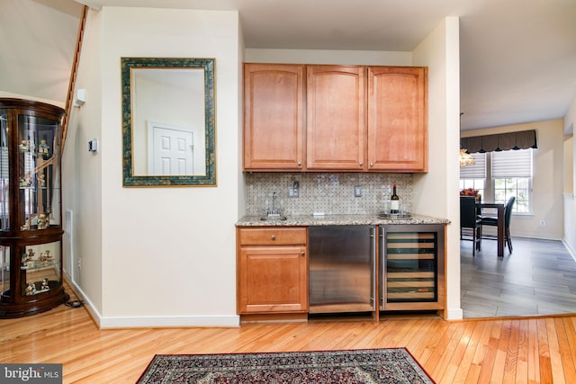
<svg viewBox="0 0 576 384"><path fill-rule="evenodd" d="M205 175L205 103L204 70L202 68L132 68L132 159L136 175ZM149 124L166 129L162 138L154 139ZM148 128L147 128L148 127ZM194 130L194 154L184 147L191 138L176 138L175 132ZM175 140L175 141L174 141ZM151 146L156 143L157 147ZM169 148L169 149L168 149ZM181 149L178 149L181 148ZM158 152L160 151L160 152ZM151 153L152 152L152 153ZM157 155L158 167L150 166L150 156Z"/></svg>

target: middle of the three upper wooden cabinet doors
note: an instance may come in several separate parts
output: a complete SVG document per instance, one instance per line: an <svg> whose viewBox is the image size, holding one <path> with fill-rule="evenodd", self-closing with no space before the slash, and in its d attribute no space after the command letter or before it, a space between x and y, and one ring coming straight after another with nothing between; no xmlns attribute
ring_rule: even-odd
<svg viewBox="0 0 576 384"><path fill-rule="evenodd" d="M365 67L306 67L306 166L365 170Z"/></svg>

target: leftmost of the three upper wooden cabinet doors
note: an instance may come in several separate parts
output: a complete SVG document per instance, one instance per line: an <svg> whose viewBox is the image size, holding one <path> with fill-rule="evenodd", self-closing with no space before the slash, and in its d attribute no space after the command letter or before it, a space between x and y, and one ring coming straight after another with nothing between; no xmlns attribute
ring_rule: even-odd
<svg viewBox="0 0 576 384"><path fill-rule="evenodd" d="M303 74L300 65L244 65L245 170L302 171Z"/></svg>

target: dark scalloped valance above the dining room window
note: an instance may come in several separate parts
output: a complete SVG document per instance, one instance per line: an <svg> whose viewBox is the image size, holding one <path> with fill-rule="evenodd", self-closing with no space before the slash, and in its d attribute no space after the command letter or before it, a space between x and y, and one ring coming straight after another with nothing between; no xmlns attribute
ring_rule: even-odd
<svg viewBox="0 0 576 384"><path fill-rule="evenodd" d="M536 129L460 138L460 147L468 153L537 148Z"/></svg>

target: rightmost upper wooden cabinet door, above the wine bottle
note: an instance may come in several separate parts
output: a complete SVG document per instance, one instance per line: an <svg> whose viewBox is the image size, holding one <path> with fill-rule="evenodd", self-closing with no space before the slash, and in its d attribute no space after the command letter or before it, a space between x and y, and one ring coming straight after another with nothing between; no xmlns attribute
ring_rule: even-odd
<svg viewBox="0 0 576 384"><path fill-rule="evenodd" d="M428 68L368 68L368 170L428 172Z"/></svg>

